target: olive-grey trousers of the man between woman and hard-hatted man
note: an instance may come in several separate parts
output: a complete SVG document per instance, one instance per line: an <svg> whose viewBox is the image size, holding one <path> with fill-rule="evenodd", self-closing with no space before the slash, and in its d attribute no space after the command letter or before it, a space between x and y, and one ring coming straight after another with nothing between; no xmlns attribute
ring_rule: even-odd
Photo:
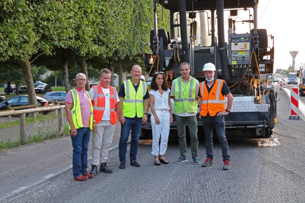
<svg viewBox="0 0 305 203"><path fill-rule="evenodd" d="M191 152L192 158L198 157L198 138L197 138L197 119L195 116L177 116L176 124L179 136L180 156L187 157L187 141L186 141L186 124L189 127L191 136Z"/></svg>

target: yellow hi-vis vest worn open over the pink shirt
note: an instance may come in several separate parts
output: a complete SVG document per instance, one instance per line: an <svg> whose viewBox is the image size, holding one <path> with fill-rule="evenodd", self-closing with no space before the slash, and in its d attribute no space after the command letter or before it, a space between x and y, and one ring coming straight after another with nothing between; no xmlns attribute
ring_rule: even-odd
<svg viewBox="0 0 305 203"><path fill-rule="evenodd" d="M71 89L70 91L71 91L72 99L73 99L73 107L71 109L71 117L72 117L72 121L73 121L74 127L76 129L78 129L78 128L83 127L82 119L81 119L81 109L80 109L79 97L78 97L77 90ZM90 92L86 91L86 93L87 93L88 99L91 99L90 98ZM93 107L92 107L91 103L90 103L90 120L89 120L89 124L90 124L90 130L92 130ZM69 130L71 130L70 124L69 124Z"/></svg>

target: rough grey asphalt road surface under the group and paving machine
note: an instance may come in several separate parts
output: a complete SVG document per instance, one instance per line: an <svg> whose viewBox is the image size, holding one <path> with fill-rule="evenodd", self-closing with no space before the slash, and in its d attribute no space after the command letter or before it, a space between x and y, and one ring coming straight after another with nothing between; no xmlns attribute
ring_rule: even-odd
<svg viewBox="0 0 305 203"><path fill-rule="evenodd" d="M168 144L165 157L170 163L155 166L151 145L149 142L142 142L137 156L141 167L131 166L127 161L127 167L124 170L119 169L116 148L109 154L108 165L113 168L111 174L99 173L93 179L77 182L73 180L70 168L47 177L46 180L31 187L20 189L20 192L15 192L1 201L304 202L305 138L302 118L305 118L305 115L301 112L300 120L289 120L290 100L287 91L279 91L278 84L276 88L280 98L277 114L279 121L273 129L273 138L229 140L231 154L229 171L222 170L223 162L218 141L214 143L215 165L207 168L192 162L190 144L188 161L175 163L179 157L177 142ZM284 88L290 89L288 85ZM200 132L198 134L200 135ZM56 145L52 150L58 160L57 164L64 161L71 162L71 159L63 160ZM204 140L200 140L198 151L202 162L205 159ZM38 164L40 163L36 166ZM53 165L56 166L55 163ZM28 163L27 166L22 170L32 172L35 165ZM14 171L14 173L18 172ZM5 174L5 176L9 175L15 174ZM35 173L28 176L29 180L31 177L34 179ZM5 187L5 185L1 186L1 188Z"/></svg>

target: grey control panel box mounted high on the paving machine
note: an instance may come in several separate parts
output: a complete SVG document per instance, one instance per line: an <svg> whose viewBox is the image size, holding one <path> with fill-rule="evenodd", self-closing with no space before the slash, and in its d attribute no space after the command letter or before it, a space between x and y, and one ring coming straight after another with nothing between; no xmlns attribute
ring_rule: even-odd
<svg viewBox="0 0 305 203"><path fill-rule="evenodd" d="M251 34L229 35L229 65L249 64L251 57Z"/></svg>

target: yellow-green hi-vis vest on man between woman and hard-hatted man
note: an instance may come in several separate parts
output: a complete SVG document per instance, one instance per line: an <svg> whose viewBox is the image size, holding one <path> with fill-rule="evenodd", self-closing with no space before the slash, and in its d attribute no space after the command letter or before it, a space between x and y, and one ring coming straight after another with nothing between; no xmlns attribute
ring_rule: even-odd
<svg viewBox="0 0 305 203"><path fill-rule="evenodd" d="M175 88L175 113L189 113L197 112L197 99L196 99L196 84L197 80L190 76L190 80L187 84L183 83L182 78L176 78L175 84L178 88Z"/></svg>

